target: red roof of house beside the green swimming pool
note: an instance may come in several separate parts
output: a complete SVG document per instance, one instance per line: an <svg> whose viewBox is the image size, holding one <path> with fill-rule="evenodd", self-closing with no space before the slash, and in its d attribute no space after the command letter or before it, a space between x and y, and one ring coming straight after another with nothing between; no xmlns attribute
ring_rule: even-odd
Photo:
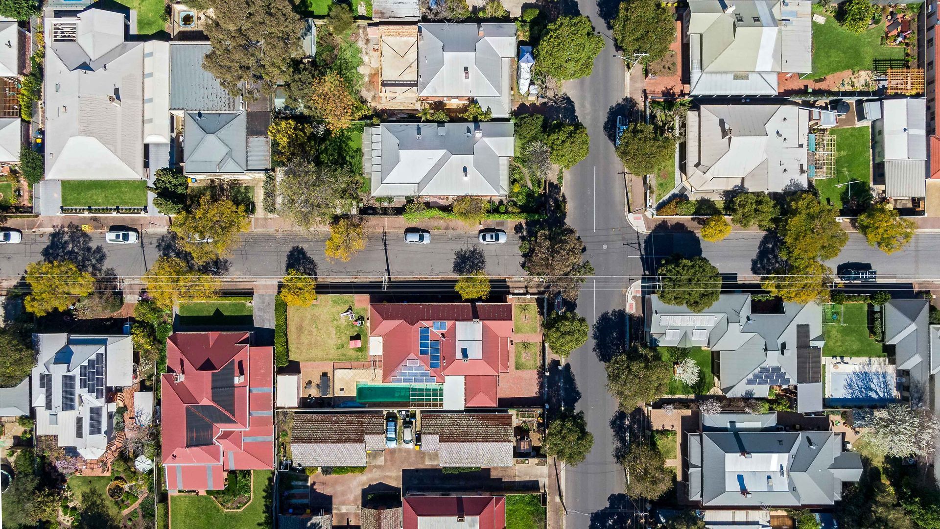
<svg viewBox="0 0 940 529"><path fill-rule="evenodd" d="M482 358L458 359L456 323L474 320L482 326ZM445 330L431 330L431 339L441 343L440 367L431 367L430 356L421 355L418 346L419 329L433 329L435 321L446 322ZM369 305L369 327L369 336L383 337L384 382L392 382L406 361L416 360L438 382L449 376L465 377L465 406L496 406L497 378L509 371L509 303L373 303Z"/></svg>

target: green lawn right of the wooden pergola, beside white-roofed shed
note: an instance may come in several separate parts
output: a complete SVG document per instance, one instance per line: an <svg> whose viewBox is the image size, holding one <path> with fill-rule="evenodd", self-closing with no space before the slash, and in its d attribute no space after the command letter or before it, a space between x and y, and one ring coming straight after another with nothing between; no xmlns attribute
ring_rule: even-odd
<svg viewBox="0 0 940 529"><path fill-rule="evenodd" d="M829 134L836 136L836 176L834 178L813 180L813 186L820 192L820 200L828 200L842 209L843 194L848 197L849 185L852 195L859 197L870 193L871 168L871 132L868 126L832 129Z"/></svg>

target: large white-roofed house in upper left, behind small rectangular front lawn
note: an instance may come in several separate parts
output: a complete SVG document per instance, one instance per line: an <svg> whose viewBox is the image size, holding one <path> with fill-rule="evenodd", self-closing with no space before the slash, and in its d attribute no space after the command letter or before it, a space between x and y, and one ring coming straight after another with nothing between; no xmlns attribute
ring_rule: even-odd
<svg viewBox="0 0 940 529"><path fill-rule="evenodd" d="M147 180L168 165L169 44L128 37L127 17L99 8L46 20L47 179Z"/></svg>

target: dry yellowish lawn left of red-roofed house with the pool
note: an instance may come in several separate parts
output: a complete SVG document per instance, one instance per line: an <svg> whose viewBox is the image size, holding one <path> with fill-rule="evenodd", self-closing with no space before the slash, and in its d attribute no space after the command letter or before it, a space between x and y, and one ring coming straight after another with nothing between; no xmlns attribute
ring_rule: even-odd
<svg viewBox="0 0 940 529"><path fill-rule="evenodd" d="M353 307L352 296L318 296L309 307L288 307L288 349L293 361L365 361L368 359L368 321L356 326L346 316L352 307L366 317L368 308ZM358 335L362 345L350 348Z"/></svg>

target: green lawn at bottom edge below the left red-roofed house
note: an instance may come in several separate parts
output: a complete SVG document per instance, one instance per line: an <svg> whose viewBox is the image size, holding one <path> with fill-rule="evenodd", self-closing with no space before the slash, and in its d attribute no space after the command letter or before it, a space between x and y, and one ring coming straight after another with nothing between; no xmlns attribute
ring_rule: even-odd
<svg viewBox="0 0 940 529"><path fill-rule="evenodd" d="M271 490L268 482L271 471L253 471L251 503L241 511L223 511L210 496L171 495L170 528L198 527L199 529L258 529L270 527L266 513L270 501L265 493Z"/></svg>

